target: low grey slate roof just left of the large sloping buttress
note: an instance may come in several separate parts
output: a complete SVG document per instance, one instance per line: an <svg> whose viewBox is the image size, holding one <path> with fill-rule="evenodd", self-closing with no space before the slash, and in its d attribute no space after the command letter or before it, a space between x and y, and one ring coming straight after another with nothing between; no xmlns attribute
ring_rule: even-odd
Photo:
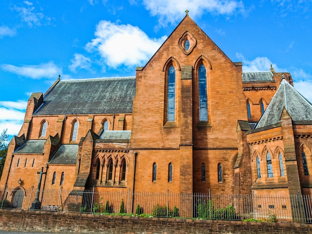
<svg viewBox="0 0 312 234"><path fill-rule="evenodd" d="M76 164L77 155L77 144L62 144L49 164Z"/></svg>

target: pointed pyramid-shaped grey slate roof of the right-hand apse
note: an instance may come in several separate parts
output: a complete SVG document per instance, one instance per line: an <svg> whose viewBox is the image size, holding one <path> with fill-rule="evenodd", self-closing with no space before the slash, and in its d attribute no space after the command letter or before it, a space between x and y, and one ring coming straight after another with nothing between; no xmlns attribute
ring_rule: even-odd
<svg viewBox="0 0 312 234"><path fill-rule="evenodd" d="M283 79L255 129L280 123L284 107L293 121L312 120L312 104Z"/></svg>

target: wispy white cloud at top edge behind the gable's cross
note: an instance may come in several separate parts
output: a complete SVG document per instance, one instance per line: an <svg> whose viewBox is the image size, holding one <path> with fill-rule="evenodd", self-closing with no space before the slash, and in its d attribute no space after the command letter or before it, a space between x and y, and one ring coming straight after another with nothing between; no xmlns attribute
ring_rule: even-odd
<svg viewBox="0 0 312 234"><path fill-rule="evenodd" d="M186 9L192 17L199 17L205 12L229 15L244 11L241 0L143 0L143 4L153 16L159 17L162 26L181 20Z"/></svg>

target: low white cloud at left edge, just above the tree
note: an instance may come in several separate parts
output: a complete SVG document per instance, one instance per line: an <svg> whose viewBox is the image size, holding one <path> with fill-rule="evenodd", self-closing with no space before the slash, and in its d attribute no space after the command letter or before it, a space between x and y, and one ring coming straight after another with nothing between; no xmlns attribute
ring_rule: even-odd
<svg viewBox="0 0 312 234"><path fill-rule="evenodd" d="M7 129L7 134L17 135L24 120L27 102L0 101L0 131Z"/></svg>

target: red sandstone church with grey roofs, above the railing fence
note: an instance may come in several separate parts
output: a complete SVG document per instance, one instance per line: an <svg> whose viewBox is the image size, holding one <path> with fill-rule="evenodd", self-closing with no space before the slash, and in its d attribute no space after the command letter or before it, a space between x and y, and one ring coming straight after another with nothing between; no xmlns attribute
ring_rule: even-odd
<svg viewBox="0 0 312 234"><path fill-rule="evenodd" d="M0 189L310 195L311 152L291 74L243 73L186 14L135 77L33 93Z"/></svg>

